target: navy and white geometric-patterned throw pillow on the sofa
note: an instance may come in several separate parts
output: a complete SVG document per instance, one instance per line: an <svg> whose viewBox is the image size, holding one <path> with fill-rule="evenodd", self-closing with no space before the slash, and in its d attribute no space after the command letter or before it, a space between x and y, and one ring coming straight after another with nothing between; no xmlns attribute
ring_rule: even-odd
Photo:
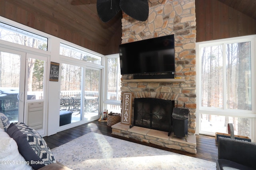
<svg viewBox="0 0 256 170"><path fill-rule="evenodd" d="M24 123L11 123L6 132L16 141L20 154L35 170L56 163L51 150L36 130Z"/></svg>

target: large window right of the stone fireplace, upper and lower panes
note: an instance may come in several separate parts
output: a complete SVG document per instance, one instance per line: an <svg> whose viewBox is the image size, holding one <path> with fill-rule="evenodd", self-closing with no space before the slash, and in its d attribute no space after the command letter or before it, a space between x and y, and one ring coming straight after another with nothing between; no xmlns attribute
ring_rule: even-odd
<svg viewBox="0 0 256 170"><path fill-rule="evenodd" d="M199 133L227 133L227 124L233 123L236 135L252 136L254 39L247 36L197 44Z"/></svg>

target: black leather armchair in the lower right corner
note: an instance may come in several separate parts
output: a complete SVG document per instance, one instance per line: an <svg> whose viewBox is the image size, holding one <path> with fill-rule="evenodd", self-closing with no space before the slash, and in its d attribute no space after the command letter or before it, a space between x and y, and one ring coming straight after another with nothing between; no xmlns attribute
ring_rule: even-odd
<svg viewBox="0 0 256 170"><path fill-rule="evenodd" d="M256 143L218 138L217 170L255 170L256 169Z"/></svg>

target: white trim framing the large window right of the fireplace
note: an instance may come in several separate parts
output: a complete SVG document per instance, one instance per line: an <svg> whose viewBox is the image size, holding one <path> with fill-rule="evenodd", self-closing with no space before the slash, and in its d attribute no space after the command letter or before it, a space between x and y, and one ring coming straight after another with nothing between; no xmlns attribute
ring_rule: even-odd
<svg viewBox="0 0 256 170"><path fill-rule="evenodd" d="M202 47L208 47L213 45L223 45L223 43L238 43L238 42L244 42L244 41L251 41L251 54L252 54L252 110L251 111L244 111L244 110L234 110L234 109L218 109L218 108L209 108L209 107L202 107L201 101L202 101L202 63L201 61L201 55L200 55L200 49ZM234 37L234 38L228 38L228 39L219 39L219 40L213 40L213 41L204 41L200 43L196 43L196 134L200 134L200 126L201 121L200 117L201 114L212 114L212 115L227 115L227 116L236 116L236 117L247 117L251 118L251 136L252 141L256 141L256 35L248 35L243 37ZM241 115L241 112L242 115ZM201 133L205 135L212 135L210 133Z"/></svg>

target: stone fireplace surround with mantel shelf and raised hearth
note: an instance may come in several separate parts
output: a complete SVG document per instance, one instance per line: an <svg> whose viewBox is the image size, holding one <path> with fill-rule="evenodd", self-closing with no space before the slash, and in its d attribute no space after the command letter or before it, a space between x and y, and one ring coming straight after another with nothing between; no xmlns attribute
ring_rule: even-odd
<svg viewBox="0 0 256 170"><path fill-rule="evenodd" d="M150 81L150 82L148 82ZM178 101L178 106L183 107L185 102L179 101L182 94L182 87L186 80L181 79L124 79L122 80L122 90L133 92L132 121L134 121L134 100L144 98L155 98L166 101ZM175 102L176 103L176 102ZM185 103L186 106L186 103ZM187 107L187 106L186 106ZM193 110L189 108L190 111ZM190 114L190 117L192 115ZM191 118L192 120L192 118ZM188 129L191 129L193 122L190 121ZM168 136L168 132L163 130L150 129L147 127L123 125L117 123L112 126L112 134L126 138L135 139L145 143L152 143L162 147L184 150L190 153L196 153L196 136L188 130L188 139Z"/></svg>

